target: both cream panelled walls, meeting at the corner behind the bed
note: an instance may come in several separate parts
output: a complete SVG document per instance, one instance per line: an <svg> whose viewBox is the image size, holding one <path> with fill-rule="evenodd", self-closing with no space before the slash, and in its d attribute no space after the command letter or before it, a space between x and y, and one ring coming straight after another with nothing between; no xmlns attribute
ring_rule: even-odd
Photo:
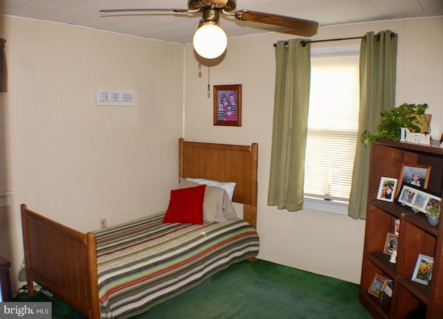
<svg viewBox="0 0 443 319"><path fill-rule="evenodd" d="M229 39L210 84L243 85L242 127L215 127L208 68L199 76L192 46L11 17L0 26L10 74L8 93L0 93L3 183L15 192L0 209L0 253L12 261L13 281L23 258L20 203L79 230L98 228L103 217L111 225L165 209L177 183L184 100L187 140L259 144L259 257L359 282L364 221L266 206L272 44L287 35ZM399 33L397 104L428 102L440 138L442 27L443 19L363 24L321 28L316 39ZM137 106L96 107L94 89L137 91Z"/></svg>

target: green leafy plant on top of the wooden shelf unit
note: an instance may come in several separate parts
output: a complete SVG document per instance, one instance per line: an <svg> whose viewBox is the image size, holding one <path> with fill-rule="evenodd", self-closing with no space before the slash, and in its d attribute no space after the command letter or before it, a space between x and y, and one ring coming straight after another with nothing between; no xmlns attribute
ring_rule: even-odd
<svg viewBox="0 0 443 319"><path fill-rule="evenodd" d="M377 126L377 133L371 133L365 129L361 134L361 142L368 147L370 142L379 138L388 138L390 140L400 140L400 127L406 127L409 131L421 133L422 125L426 122L424 111L428 104L401 104L390 111L383 109L381 116L383 120Z"/></svg>

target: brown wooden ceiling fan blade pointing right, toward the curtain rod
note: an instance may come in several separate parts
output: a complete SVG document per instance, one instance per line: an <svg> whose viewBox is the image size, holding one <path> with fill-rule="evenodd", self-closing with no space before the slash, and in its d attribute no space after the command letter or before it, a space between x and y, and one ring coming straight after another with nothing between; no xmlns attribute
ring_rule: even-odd
<svg viewBox="0 0 443 319"><path fill-rule="evenodd" d="M284 15L273 15L272 13L257 12L250 10L239 10L233 16L241 21L252 21L260 24L271 24L278 26L276 31L311 37L317 34L318 22L286 17Z"/></svg>

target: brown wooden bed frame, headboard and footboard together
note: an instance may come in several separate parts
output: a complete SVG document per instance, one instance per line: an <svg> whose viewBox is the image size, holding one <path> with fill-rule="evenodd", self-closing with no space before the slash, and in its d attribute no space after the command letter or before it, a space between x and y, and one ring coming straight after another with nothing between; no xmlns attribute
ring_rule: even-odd
<svg viewBox="0 0 443 319"><path fill-rule="evenodd" d="M224 145L179 139L179 176L230 181L244 220L257 221L257 144ZM81 233L21 205L28 291L33 281L88 318L100 318L96 234Z"/></svg>

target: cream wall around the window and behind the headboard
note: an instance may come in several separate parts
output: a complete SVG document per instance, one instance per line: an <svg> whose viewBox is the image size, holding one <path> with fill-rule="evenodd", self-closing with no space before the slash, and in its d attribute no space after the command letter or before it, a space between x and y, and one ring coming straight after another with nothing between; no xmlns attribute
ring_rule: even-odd
<svg viewBox="0 0 443 319"><path fill-rule="evenodd" d="M392 30L399 35L397 104L423 103L433 113L432 136L440 138L443 111L443 19L417 19L320 28L313 39L356 37L368 31ZM275 57L273 43L288 35L267 34L228 40L226 55L210 67L210 84L242 84L242 127L213 126L213 95L208 95L208 68L198 76L192 46L186 47L185 138L213 143L257 142L260 255L314 273L360 281L365 222L343 215L302 210L287 212L266 205ZM359 46L360 40L312 46Z"/></svg>

